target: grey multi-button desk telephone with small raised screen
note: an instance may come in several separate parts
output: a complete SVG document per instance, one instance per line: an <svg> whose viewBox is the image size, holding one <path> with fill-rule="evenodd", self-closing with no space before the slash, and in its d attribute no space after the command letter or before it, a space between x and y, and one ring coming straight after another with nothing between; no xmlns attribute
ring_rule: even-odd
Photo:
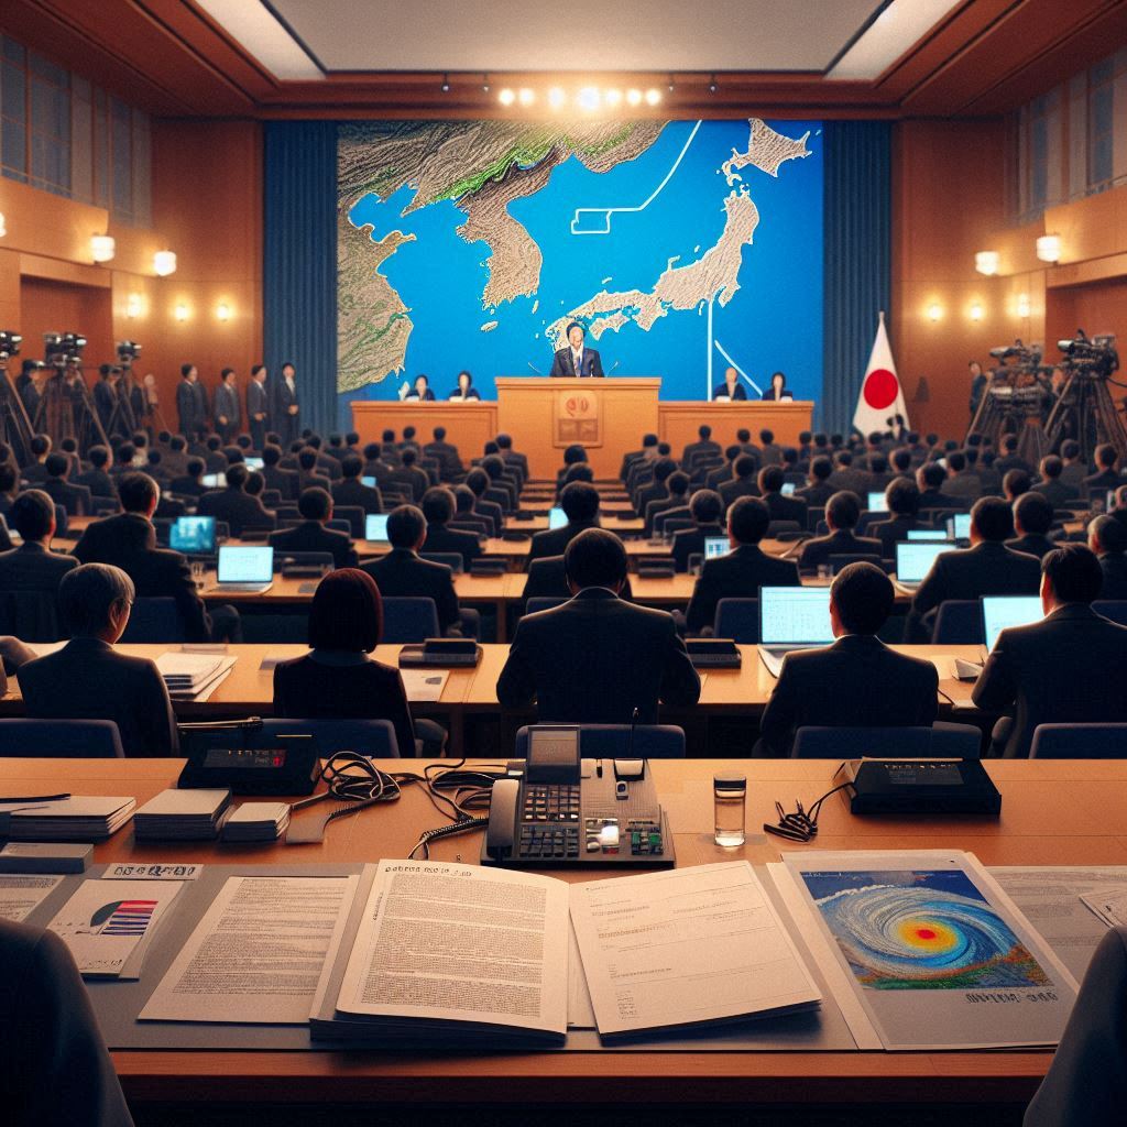
<svg viewBox="0 0 1127 1127"><path fill-rule="evenodd" d="M583 758L579 729L535 727L492 784L482 864L672 866L673 835L646 760Z"/></svg>

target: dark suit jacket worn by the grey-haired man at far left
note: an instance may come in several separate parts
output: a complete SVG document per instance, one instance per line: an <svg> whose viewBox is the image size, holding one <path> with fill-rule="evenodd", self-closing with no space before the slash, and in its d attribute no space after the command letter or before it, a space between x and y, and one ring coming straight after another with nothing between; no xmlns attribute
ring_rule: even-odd
<svg viewBox="0 0 1127 1127"><path fill-rule="evenodd" d="M147 657L126 657L98 638L72 638L17 674L29 717L113 720L126 755L177 753L176 719L165 681Z"/></svg>

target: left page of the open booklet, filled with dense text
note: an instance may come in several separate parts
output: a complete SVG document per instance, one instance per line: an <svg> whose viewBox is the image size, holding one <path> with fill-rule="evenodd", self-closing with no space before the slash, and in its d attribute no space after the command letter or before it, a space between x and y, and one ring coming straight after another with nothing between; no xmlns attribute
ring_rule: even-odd
<svg viewBox="0 0 1127 1127"><path fill-rule="evenodd" d="M549 877L381 861L337 1012L562 1036L567 902Z"/></svg>

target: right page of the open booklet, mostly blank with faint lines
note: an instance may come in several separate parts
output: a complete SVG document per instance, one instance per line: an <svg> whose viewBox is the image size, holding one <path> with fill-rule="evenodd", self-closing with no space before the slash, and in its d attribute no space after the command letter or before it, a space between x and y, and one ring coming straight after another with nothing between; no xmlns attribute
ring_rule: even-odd
<svg viewBox="0 0 1127 1127"><path fill-rule="evenodd" d="M746 861L573 885L571 919L604 1035L820 1001Z"/></svg>

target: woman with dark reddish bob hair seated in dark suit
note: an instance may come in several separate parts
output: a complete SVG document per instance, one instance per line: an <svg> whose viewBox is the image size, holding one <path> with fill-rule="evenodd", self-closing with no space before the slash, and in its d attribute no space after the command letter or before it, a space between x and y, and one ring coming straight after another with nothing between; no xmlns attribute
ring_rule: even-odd
<svg viewBox="0 0 1127 1127"><path fill-rule="evenodd" d="M300 720L390 720L400 755L415 754L415 727L399 671L369 654L383 633L375 580L341 568L319 584L309 609L311 653L274 667L274 715Z"/></svg>

